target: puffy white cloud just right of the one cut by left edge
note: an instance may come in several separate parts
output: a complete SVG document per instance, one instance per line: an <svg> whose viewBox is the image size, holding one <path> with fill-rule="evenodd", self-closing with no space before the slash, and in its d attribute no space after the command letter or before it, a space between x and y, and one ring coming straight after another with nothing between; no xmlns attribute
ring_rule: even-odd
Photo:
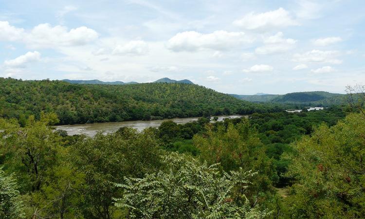
<svg viewBox="0 0 365 219"><path fill-rule="evenodd" d="M81 46L98 38L96 31L82 26L68 31L65 26L52 27L48 23L39 24L27 34L24 41L31 48L54 48L61 46Z"/></svg>

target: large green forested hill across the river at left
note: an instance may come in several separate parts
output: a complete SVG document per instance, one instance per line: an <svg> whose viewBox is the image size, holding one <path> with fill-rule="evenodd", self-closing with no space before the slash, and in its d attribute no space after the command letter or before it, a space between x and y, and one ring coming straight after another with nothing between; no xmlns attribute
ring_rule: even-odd
<svg viewBox="0 0 365 219"><path fill-rule="evenodd" d="M0 78L0 117L57 113L60 124L150 120L279 111L198 85L145 83L82 85Z"/></svg>

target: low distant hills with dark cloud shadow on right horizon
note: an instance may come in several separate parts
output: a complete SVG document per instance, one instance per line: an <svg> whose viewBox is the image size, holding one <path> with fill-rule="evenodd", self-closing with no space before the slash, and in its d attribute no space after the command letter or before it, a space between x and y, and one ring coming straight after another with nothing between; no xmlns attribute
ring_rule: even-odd
<svg viewBox="0 0 365 219"><path fill-rule="evenodd" d="M346 104L348 96L339 93L329 93L325 91L295 92L284 95L264 94L264 95L237 95L230 94L238 99L250 102L271 102L284 104L300 104L306 106L331 106Z"/></svg>

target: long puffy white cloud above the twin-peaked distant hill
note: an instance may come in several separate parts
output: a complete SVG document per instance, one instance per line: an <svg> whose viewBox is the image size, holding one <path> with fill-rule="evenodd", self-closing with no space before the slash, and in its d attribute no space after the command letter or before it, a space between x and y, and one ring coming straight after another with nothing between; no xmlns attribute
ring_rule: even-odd
<svg viewBox="0 0 365 219"><path fill-rule="evenodd" d="M202 49L221 51L253 41L252 37L248 37L243 32L215 31L211 34L201 34L195 31L186 31L170 38L166 46L175 52L194 52Z"/></svg>

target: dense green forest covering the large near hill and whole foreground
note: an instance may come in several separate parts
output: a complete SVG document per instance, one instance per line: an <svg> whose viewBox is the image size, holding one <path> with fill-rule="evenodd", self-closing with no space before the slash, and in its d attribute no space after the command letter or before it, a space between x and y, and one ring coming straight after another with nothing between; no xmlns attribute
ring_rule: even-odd
<svg viewBox="0 0 365 219"><path fill-rule="evenodd" d="M290 113L196 85L2 83L0 218L364 218L365 96ZM178 105L174 96L196 102ZM93 137L53 128L59 106L109 109L127 100L137 105L125 109L137 111L258 110Z"/></svg>

